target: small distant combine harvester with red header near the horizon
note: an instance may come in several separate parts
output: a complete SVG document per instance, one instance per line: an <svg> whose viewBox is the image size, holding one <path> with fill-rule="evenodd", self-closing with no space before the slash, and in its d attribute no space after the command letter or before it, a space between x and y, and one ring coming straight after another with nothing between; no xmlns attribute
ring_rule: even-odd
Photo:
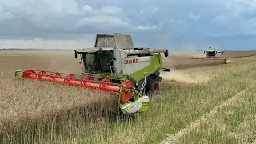
<svg viewBox="0 0 256 144"><path fill-rule="evenodd" d="M218 60L218 61L224 61L224 63L227 63L227 58L224 58L222 56L224 52L218 50L218 48L212 48L209 47L208 50L204 51L204 54L206 54L205 57L191 57L192 59L208 59L208 60Z"/></svg>

